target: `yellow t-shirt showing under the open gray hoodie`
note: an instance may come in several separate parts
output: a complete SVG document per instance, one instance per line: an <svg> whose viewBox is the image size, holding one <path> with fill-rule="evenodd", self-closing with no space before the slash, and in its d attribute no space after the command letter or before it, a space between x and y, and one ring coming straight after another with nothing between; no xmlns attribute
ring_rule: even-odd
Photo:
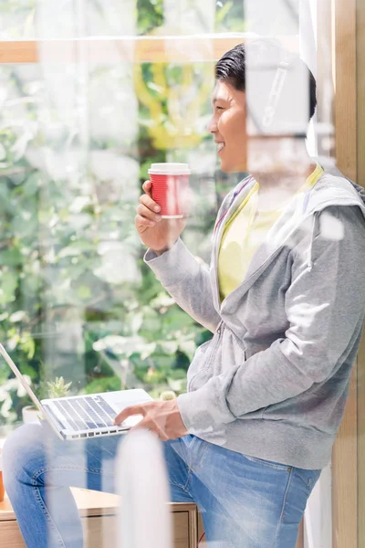
<svg viewBox="0 0 365 548"><path fill-rule="evenodd" d="M317 165L297 194L313 187L322 174L322 167ZM267 232L284 209L260 211L257 215L258 189L259 184L256 183L224 227L218 256L222 300L242 283L255 251L264 243Z"/></svg>

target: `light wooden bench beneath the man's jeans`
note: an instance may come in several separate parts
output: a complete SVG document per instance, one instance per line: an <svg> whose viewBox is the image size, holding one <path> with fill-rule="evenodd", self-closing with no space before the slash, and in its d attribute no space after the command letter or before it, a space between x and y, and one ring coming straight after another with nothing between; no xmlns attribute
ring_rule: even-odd
<svg viewBox="0 0 365 548"><path fill-rule="evenodd" d="M85 548L116 548L119 497L109 493L73 489L84 528ZM198 512L195 504L171 503L173 548L196 548ZM10 501L0 502L0 546L26 548ZM202 544L203 546L203 544Z"/></svg>

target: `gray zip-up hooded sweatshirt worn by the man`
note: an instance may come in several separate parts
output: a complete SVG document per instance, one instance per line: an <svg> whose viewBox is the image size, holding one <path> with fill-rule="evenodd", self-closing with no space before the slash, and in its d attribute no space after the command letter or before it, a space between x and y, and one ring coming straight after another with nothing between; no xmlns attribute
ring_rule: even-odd
<svg viewBox="0 0 365 548"><path fill-rule="evenodd" d="M323 174L297 194L221 302L217 258L224 226L255 181L224 199L210 269L179 239L146 263L173 299L214 332L177 402L188 431L255 458L321 469L331 457L365 312L361 187Z"/></svg>

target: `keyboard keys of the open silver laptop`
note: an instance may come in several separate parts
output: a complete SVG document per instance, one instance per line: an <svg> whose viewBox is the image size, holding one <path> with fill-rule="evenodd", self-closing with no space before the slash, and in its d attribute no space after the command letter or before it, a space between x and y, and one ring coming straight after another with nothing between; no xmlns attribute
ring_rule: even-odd
<svg viewBox="0 0 365 548"><path fill-rule="evenodd" d="M52 403L75 430L115 426L116 413L100 395L53 400Z"/></svg>

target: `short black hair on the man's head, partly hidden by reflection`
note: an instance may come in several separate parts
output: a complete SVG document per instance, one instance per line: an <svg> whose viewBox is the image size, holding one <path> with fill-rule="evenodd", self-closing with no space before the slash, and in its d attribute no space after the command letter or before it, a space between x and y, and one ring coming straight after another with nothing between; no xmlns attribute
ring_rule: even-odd
<svg viewBox="0 0 365 548"><path fill-rule="evenodd" d="M276 39L249 39L247 42L238 44L230 51L227 51L215 65L215 78L229 82L236 90L245 91L247 84L247 68L255 66L280 68L283 66L283 62L285 63L284 66L287 67L288 72L294 71L294 69L299 69L299 71L301 71L304 80L300 79L300 82L306 81L306 79L308 80L308 121L310 121L317 106L316 79L306 63L299 58L297 54L293 54L292 52L288 53ZM284 88L288 85L287 80L284 83ZM273 75L271 81L266 81L265 87L268 90L267 94L273 85L273 81ZM294 84L293 90L295 90L296 85L302 86L300 82ZM302 87L300 92L298 89L297 92L293 91L292 95L296 100L303 98L302 91ZM285 105L283 105L283 107L285 111Z"/></svg>

